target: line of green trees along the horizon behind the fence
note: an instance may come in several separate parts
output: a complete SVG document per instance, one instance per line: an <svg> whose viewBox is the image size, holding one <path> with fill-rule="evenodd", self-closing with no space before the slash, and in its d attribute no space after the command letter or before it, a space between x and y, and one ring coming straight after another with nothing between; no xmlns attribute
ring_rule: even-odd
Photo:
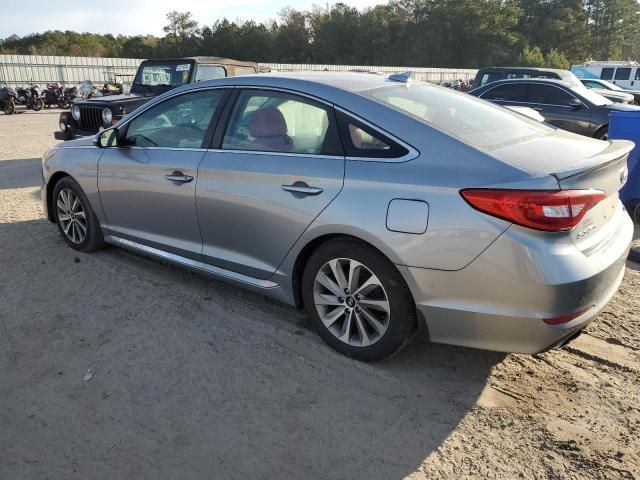
<svg viewBox="0 0 640 480"><path fill-rule="evenodd" d="M0 39L0 53L470 68L640 59L638 0L391 0L364 10L336 3L213 25L173 11L163 30L164 37L13 35Z"/></svg>

